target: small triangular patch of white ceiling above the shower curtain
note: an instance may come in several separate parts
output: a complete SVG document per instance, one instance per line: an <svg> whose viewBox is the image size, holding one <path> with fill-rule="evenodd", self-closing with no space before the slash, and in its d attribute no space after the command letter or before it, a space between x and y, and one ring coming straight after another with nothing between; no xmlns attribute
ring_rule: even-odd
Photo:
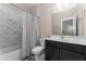
<svg viewBox="0 0 86 64"><path fill-rule="evenodd" d="M32 7L36 5L36 3L13 3L13 4L24 11L27 11Z"/></svg>

